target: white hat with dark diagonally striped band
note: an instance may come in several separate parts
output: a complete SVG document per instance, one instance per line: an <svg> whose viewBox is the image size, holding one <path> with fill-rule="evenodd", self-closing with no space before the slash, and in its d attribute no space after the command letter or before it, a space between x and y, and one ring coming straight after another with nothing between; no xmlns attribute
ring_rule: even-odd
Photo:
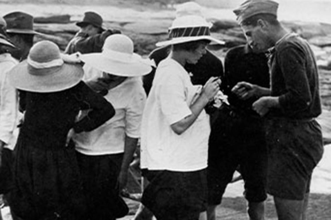
<svg viewBox="0 0 331 220"><path fill-rule="evenodd" d="M225 44L210 36L210 22L202 15L201 6L195 2L187 2L176 9L176 18L169 27L169 40L156 43L156 46L180 44L189 41L210 40L216 44Z"/></svg>

